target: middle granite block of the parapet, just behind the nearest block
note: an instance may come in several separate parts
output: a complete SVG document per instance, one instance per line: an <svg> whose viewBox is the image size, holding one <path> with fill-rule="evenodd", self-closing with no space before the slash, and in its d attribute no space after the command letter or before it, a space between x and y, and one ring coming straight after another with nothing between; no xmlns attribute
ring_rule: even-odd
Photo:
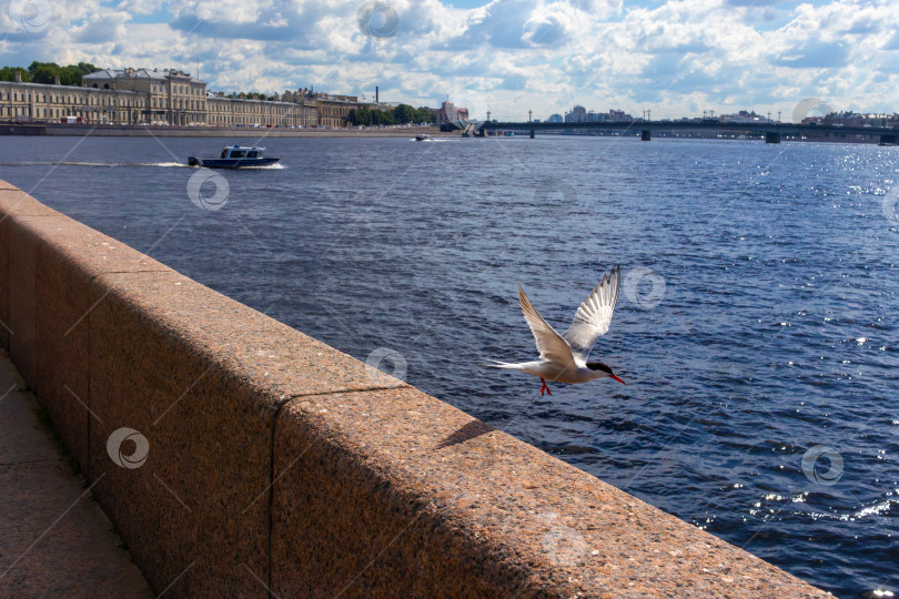
<svg viewBox="0 0 899 599"><path fill-rule="evenodd" d="M269 580L272 425L304 393L402 387L357 361L173 272L94 278L90 480L156 590L259 596ZM150 445L115 466L120 427ZM186 571L185 571L186 570Z"/></svg>

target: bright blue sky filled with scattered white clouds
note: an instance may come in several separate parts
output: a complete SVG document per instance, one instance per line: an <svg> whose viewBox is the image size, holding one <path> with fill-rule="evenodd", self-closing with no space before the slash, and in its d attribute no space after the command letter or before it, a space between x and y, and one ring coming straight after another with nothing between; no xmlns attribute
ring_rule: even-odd
<svg viewBox="0 0 899 599"><path fill-rule="evenodd" d="M653 118L818 104L899 111L899 2L0 0L0 64L180 68L475 118L583 104ZM815 112L817 113L817 111Z"/></svg>

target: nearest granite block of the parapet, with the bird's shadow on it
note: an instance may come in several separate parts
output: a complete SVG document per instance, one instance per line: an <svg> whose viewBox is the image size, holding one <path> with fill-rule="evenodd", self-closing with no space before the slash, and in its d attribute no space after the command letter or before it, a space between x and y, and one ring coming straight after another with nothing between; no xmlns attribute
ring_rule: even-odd
<svg viewBox="0 0 899 599"><path fill-rule="evenodd" d="M826 596L416 389L292 400L274 473L281 597Z"/></svg>

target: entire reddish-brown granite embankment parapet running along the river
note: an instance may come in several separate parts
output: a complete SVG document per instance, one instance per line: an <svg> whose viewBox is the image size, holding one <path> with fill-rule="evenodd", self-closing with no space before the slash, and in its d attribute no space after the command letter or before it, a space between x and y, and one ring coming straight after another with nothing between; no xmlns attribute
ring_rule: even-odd
<svg viewBox="0 0 899 599"><path fill-rule="evenodd" d="M822 595L2 181L0 219L0 341L156 592Z"/></svg>

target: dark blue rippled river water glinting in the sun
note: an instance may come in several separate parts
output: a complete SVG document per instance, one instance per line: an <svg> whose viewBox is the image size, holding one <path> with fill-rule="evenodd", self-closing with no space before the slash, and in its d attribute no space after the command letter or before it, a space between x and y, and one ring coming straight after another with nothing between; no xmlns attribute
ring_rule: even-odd
<svg viewBox="0 0 899 599"><path fill-rule="evenodd" d="M0 138L0 177L815 585L899 591L899 149L266 140L283 167L202 210L178 163L222 145ZM564 329L615 263L594 357L627 386L482 367L535 355L516 284Z"/></svg>

